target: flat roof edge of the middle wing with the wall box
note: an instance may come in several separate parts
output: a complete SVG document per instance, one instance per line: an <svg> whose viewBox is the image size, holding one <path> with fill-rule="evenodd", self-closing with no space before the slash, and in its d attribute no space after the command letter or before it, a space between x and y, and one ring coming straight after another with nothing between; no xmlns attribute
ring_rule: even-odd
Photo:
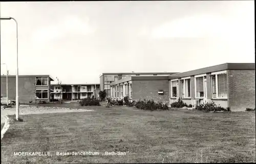
<svg viewBox="0 0 256 164"><path fill-rule="evenodd" d="M127 81L136 81L136 80L168 80L168 76L131 76L125 79L120 79L110 84L110 86L121 84Z"/></svg>

